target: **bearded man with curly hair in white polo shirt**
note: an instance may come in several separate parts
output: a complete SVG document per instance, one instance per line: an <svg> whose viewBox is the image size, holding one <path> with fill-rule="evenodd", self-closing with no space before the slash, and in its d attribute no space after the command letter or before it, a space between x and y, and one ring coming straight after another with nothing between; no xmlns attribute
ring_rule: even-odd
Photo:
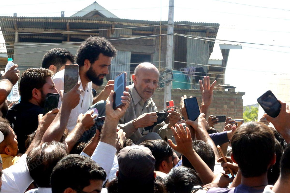
<svg viewBox="0 0 290 193"><path fill-rule="evenodd" d="M81 81L79 89L82 92L79 104L70 113L67 125L68 130L72 130L75 127L79 114L86 113L92 104L108 97L101 98L97 96L93 98L92 82L98 86L103 84L103 79L109 73L108 67L111 65L111 60L116 56L116 53L117 50L106 38L98 36L87 38L78 48L75 61L79 65L79 80ZM53 82L58 91L64 89L64 70L55 74ZM104 93L100 93L100 95L102 94L104 95ZM61 100L59 100L58 107L61 106L61 103Z"/></svg>

